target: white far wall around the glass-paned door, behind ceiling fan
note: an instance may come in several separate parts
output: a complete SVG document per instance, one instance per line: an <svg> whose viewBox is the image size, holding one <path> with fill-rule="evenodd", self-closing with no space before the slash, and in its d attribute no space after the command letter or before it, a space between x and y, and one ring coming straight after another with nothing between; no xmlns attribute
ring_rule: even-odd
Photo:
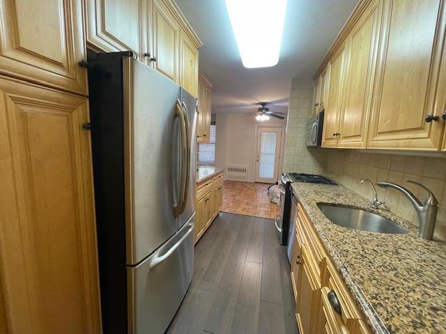
<svg viewBox="0 0 446 334"><path fill-rule="evenodd" d="M256 125L284 127L286 120L271 118L256 122L254 116L240 117L243 113L217 113L217 138L215 139L215 166L246 166L247 181L254 182L254 157L256 154ZM284 150L284 129L282 131L282 152L280 152L279 173L282 171Z"/></svg>

